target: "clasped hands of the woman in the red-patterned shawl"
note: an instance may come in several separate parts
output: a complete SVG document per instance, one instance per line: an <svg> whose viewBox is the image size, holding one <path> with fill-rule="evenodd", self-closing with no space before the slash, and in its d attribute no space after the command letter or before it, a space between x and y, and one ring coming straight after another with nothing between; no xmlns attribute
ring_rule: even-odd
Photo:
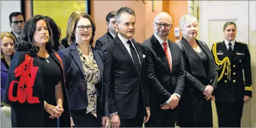
<svg viewBox="0 0 256 128"><path fill-rule="evenodd" d="M53 106L46 103L46 101L44 101L44 109L51 115L49 118L52 119L54 119L54 117L59 119L61 113L64 112L64 109L61 105Z"/></svg>

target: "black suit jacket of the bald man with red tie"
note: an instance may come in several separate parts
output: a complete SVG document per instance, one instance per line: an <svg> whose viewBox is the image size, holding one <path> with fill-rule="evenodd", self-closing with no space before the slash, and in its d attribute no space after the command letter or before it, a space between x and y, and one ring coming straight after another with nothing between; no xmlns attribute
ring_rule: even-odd
<svg viewBox="0 0 256 128"><path fill-rule="evenodd" d="M176 43L168 40L168 44L172 59L171 71L164 50L155 35L152 35L143 43L145 46L148 76L146 81L150 90L150 104L156 102L158 107L164 104L173 93L182 96L185 82L182 53ZM152 104L150 107L153 111Z"/></svg>

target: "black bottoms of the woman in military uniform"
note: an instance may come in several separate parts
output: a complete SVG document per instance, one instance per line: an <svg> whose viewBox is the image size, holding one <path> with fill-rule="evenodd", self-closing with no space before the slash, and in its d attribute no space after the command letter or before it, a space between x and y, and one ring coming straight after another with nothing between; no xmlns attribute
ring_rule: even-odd
<svg viewBox="0 0 256 128"><path fill-rule="evenodd" d="M215 101L215 104L219 127L241 127L242 108L244 107L244 102L226 103Z"/></svg>

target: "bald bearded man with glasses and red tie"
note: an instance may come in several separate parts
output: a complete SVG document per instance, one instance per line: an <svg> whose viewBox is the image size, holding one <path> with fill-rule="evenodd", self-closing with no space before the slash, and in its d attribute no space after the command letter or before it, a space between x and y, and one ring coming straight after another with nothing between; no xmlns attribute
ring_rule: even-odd
<svg viewBox="0 0 256 128"><path fill-rule="evenodd" d="M153 22L155 33L143 42L151 107L145 127L175 127L177 120L185 73L180 48L168 39L171 28L171 16L161 12Z"/></svg>

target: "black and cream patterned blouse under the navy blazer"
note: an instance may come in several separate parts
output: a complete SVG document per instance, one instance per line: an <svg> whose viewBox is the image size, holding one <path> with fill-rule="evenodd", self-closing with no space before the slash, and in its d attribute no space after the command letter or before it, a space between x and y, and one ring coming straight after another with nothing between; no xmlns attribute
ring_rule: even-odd
<svg viewBox="0 0 256 128"><path fill-rule="evenodd" d="M80 60L82 62L82 68L84 69L85 78L87 79L86 81L88 106L86 109L86 113L91 112L93 116L97 117L97 94L95 92L95 84L97 84L100 81L99 68L93 56L91 46L89 46L89 62L86 61L85 54L82 53L79 44L76 45L76 48L78 49Z"/></svg>

